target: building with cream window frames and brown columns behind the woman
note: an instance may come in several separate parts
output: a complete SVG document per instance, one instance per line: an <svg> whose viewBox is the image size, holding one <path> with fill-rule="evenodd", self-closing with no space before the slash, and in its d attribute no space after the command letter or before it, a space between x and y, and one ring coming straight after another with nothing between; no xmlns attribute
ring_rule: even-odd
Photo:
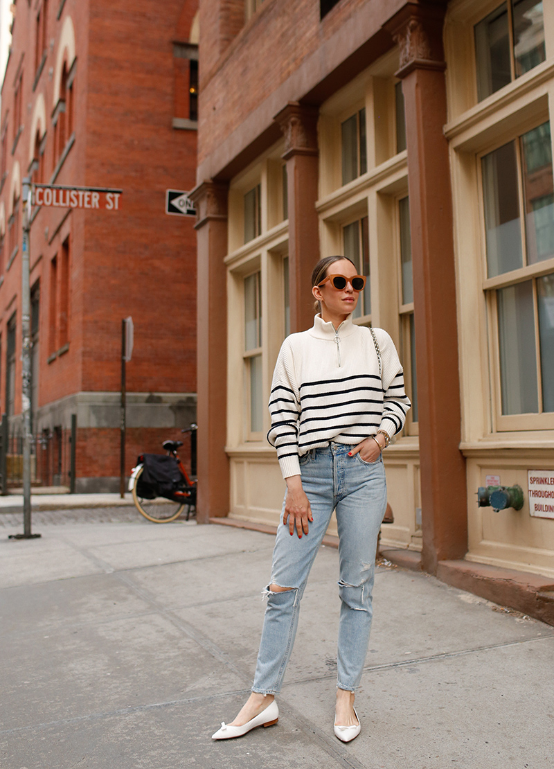
<svg viewBox="0 0 554 769"><path fill-rule="evenodd" d="M383 547L554 621L554 5L200 8L199 520L277 524L271 375L342 253L413 401ZM522 505L478 507L496 485Z"/></svg>

